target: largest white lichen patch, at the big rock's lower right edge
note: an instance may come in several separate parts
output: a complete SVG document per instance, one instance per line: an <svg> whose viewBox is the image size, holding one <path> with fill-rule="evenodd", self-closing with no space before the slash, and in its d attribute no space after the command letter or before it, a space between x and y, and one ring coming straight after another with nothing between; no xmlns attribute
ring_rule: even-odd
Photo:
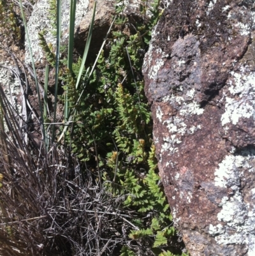
<svg viewBox="0 0 255 256"><path fill-rule="evenodd" d="M229 155L215 170L215 186L231 188L232 193L221 199L221 211L217 215L219 224L210 225L209 233L219 245L247 245L248 255L255 255L255 207L244 200L240 183L244 171L253 169L254 151L242 151L240 155ZM251 195L254 193L251 189ZM224 223L224 224L223 224Z"/></svg>

